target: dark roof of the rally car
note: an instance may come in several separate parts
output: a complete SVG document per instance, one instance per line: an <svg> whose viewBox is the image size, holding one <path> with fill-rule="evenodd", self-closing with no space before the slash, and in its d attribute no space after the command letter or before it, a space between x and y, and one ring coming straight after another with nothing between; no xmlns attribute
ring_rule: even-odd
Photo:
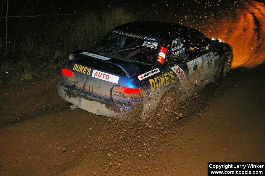
<svg viewBox="0 0 265 176"><path fill-rule="evenodd" d="M197 32L197 30L187 26L163 21L134 21L117 26L115 29L157 38L163 38L168 34L181 34L186 30Z"/></svg>

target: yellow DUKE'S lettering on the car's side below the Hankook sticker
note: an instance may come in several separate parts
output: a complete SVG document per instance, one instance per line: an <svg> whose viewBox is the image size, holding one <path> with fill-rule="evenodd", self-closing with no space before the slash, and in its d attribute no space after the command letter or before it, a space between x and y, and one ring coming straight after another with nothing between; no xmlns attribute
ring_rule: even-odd
<svg viewBox="0 0 265 176"><path fill-rule="evenodd" d="M169 79L171 79L171 81L169 81ZM172 71L149 79L151 91L154 91L156 88L159 89L161 86L167 86L170 84L170 82L174 83L174 79L175 77Z"/></svg>

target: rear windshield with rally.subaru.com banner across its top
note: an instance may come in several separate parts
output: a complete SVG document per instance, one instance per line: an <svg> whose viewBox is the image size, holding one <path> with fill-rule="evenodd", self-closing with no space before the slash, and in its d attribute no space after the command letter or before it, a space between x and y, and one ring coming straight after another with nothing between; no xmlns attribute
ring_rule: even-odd
<svg viewBox="0 0 265 176"><path fill-rule="evenodd" d="M113 30L90 50L99 55L136 64L155 62L161 39Z"/></svg>

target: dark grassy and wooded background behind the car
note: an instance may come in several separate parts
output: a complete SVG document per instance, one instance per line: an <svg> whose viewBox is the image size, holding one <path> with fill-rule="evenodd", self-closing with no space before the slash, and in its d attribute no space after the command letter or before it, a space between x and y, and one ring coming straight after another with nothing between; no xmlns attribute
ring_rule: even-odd
<svg viewBox="0 0 265 176"><path fill-rule="evenodd" d="M221 8L230 10L237 4L238 1L229 0L1 0L0 83L41 78L40 70L67 59L73 50L89 49L119 24L159 20L192 26L197 21L207 22L204 16L215 18L214 13ZM201 11L201 15L194 16L196 11Z"/></svg>

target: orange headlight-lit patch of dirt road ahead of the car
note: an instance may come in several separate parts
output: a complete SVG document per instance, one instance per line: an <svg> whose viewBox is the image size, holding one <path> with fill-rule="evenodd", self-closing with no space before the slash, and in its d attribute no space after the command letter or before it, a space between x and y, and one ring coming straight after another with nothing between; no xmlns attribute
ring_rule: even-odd
<svg viewBox="0 0 265 176"><path fill-rule="evenodd" d="M255 67L265 60L265 7L261 2L250 1L244 11L231 21L222 24L220 38L234 49L232 68Z"/></svg>

